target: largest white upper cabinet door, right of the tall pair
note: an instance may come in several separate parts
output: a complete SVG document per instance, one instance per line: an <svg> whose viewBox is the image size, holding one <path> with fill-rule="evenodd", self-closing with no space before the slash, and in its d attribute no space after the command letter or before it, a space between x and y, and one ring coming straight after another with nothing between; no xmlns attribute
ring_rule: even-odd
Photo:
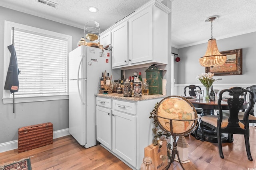
<svg viewBox="0 0 256 170"><path fill-rule="evenodd" d="M153 59L152 6L129 20L129 64Z"/></svg>

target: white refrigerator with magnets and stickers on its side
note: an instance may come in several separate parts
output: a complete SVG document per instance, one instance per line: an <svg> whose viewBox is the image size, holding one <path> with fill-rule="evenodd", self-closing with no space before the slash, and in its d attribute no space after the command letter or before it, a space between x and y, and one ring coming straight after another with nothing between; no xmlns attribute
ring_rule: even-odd
<svg viewBox="0 0 256 170"><path fill-rule="evenodd" d="M85 148L96 145L96 96L102 72L114 80L120 70L112 70L111 51L81 45L68 56L69 133Z"/></svg>

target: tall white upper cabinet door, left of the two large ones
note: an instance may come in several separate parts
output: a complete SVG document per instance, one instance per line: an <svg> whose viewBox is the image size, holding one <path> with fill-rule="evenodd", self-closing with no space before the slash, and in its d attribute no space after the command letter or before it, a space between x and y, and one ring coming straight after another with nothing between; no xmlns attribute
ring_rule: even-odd
<svg viewBox="0 0 256 170"><path fill-rule="evenodd" d="M120 23L111 31L112 67L128 64L128 23Z"/></svg>

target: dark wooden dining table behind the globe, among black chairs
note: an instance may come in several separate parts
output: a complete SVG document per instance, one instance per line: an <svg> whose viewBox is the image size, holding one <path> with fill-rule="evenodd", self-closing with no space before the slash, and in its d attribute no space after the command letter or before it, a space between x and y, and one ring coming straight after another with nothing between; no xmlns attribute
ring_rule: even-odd
<svg viewBox="0 0 256 170"><path fill-rule="evenodd" d="M192 99L189 101L192 103L192 105L194 107L202 108L202 113L200 114L200 116L217 115L217 111L215 113L214 110L218 110L218 100L210 101L210 100L205 100L205 99L203 99L203 100ZM241 109L246 109L247 105L248 105L248 102L244 102ZM227 100L222 100L221 106L222 106L222 110L229 110ZM204 131L204 136L205 136L204 141L208 141L211 143L218 143L216 130L211 129L210 127L205 125L203 131ZM191 135L196 137L195 133L192 133ZM200 126L197 129L197 136L199 137L197 139L202 138L202 131L201 131ZM228 142L228 134L222 133L221 140L222 140L222 143L227 143Z"/></svg>

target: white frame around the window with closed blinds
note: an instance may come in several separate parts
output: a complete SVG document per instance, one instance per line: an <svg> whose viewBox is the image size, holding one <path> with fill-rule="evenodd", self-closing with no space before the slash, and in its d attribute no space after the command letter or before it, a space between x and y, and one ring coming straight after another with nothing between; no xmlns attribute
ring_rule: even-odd
<svg viewBox="0 0 256 170"><path fill-rule="evenodd" d="M6 74L8 71L8 66L10 62L10 51L8 50L8 45L12 44L12 27L18 28L18 29L24 29L28 31L32 31L38 34L45 34L50 35L52 37L58 37L61 39L65 39L68 42L67 51L68 53L72 51L72 36L65 35L62 33L56 33L53 31L48 31L46 29L40 29L36 27L31 27L28 25L23 25L19 23L14 23L10 21L4 21L4 80L3 80L3 86L6 80ZM67 66L68 66L68 56L67 56ZM22 71L22 70L21 70ZM67 67L67 78L68 78L68 67ZM68 82L67 82L67 88L68 88ZM39 102L39 101L50 101L50 100L66 100L68 99L68 92L64 95L47 95L47 96L20 96L15 97L15 103L23 103L23 102ZM12 103L12 96L10 95L10 90L4 90L3 89L3 97L2 97L4 104L10 104Z"/></svg>

